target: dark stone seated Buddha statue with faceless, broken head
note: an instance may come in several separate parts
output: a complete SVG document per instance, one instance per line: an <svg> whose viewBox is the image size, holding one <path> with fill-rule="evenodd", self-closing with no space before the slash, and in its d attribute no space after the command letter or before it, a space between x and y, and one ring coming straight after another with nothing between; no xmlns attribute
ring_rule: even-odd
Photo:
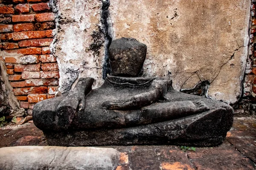
<svg viewBox="0 0 256 170"><path fill-rule="evenodd" d="M138 77L146 51L133 38L113 40L111 76L101 87L92 89L93 78L80 78L67 96L38 102L33 119L48 144L221 144L232 126L233 108L175 91L172 79Z"/></svg>

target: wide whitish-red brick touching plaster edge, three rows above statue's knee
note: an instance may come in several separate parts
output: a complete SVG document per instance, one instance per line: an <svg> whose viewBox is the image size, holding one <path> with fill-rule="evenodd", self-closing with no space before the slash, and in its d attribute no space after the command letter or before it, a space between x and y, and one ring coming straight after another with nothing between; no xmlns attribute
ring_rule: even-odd
<svg viewBox="0 0 256 170"><path fill-rule="evenodd" d="M26 79L26 86L58 85L58 79Z"/></svg>

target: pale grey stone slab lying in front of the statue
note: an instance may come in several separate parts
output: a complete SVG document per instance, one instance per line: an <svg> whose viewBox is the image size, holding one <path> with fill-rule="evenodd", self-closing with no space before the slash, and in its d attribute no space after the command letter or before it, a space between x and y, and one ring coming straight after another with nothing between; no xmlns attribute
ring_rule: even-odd
<svg viewBox="0 0 256 170"><path fill-rule="evenodd" d="M4 170L115 170L119 152L97 147L17 146L0 148L0 160Z"/></svg>

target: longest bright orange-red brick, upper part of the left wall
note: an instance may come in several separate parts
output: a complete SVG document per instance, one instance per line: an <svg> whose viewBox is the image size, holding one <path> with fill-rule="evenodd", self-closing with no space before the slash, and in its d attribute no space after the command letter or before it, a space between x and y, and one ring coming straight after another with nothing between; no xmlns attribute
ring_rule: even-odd
<svg viewBox="0 0 256 170"><path fill-rule="evenodd" d="M12 33L11 36L12 36L12 39L15 41L53 37L52 30L14 32Z"/></svg>

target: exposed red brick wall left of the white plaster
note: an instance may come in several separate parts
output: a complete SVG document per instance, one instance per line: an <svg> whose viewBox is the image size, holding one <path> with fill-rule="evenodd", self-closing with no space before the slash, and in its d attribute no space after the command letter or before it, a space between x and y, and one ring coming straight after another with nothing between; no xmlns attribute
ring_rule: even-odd
<svg viewBox="0 0 256 170"><path fill-rule="evenodd" d="M58 65L50 53L54 13L49 0L0 0L0 48L20 106L32 114L36 102L54 97Z"/></svg>

